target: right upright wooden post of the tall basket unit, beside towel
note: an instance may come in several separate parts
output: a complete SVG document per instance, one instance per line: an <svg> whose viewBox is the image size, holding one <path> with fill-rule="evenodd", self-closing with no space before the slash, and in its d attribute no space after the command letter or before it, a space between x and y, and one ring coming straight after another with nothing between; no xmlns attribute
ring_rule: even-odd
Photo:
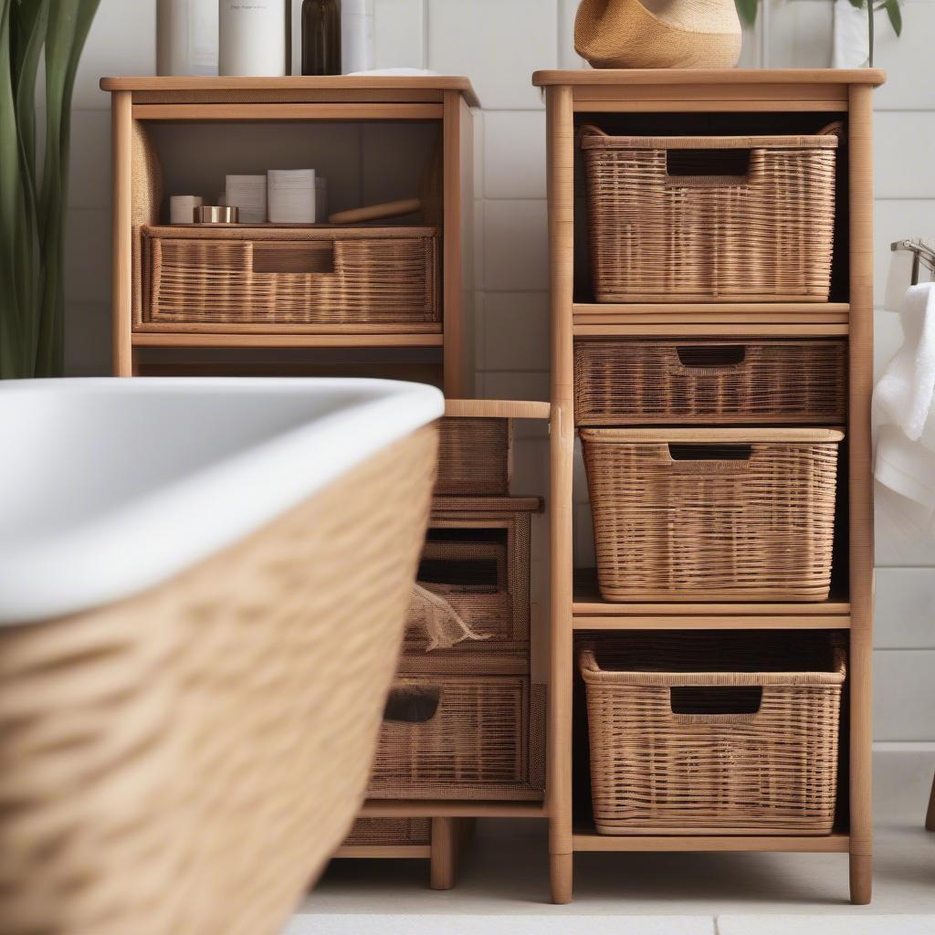
<svg viewBox="0 0 935 935"><path fill-rule="evenodd" d="M851 901L872 892L873 500L870 397L873 389L873 164L870 87L850 90L850 817Z"/></svg>

